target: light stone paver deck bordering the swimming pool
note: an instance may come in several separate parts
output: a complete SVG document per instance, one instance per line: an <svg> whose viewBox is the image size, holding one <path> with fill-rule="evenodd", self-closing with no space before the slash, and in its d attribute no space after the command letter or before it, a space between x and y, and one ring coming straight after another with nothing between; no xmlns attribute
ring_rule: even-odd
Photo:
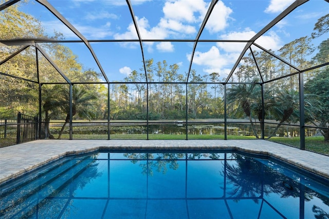
<svg viewBox="0 0 329 219"><path fill-rule="evenodd" d="M329 179L329 156L266 140L36 140L0 148L0 184L67 154L98 149L235 149L269 155Z"/></svg>

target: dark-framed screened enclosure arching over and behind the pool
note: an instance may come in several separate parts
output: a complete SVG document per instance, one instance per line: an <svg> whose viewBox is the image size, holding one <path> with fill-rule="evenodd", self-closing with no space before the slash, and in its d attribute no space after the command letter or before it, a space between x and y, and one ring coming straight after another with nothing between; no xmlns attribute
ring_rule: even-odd
<svg viewBox="0 0 329 219"><path fill-rule="evenodd" d="M329 146L328 1L0 8L0 119L38 116L41 138Z"/></svg>

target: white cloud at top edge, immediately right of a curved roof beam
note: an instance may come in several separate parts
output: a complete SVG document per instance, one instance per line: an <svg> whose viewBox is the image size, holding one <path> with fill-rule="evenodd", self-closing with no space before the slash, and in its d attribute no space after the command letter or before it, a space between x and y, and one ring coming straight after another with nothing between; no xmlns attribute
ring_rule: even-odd
<svg viewBox="0 0 329 219"><path fill-rule="evenodd" d="M232 13L232 9L226 7L222 1L218 1L211 12L209 20L206 24L206 29L210 33L224 30L228 26L227 20Z"/></svg>

